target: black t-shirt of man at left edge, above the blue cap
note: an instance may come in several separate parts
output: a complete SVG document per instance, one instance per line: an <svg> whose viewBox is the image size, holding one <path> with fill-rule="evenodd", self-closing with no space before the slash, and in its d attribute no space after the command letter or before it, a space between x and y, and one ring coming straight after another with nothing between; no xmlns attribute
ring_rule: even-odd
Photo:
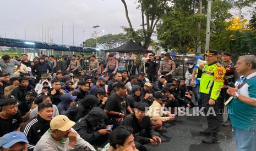
<svg viewBox="0 0 256 151"><path fill-rule="evenodd" d="M9 119L2 119L0 117L0 137L6 133L12 132L18 129L19 124L23 123L21 113L18 109L18 112L10 117Z"/></svg>

